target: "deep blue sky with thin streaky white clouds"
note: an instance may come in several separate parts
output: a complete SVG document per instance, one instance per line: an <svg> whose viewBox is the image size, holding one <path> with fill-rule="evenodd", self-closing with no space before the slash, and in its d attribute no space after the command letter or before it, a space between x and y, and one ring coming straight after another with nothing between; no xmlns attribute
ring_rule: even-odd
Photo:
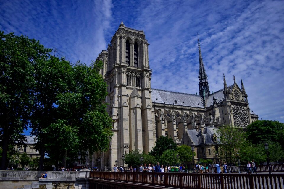
<svg viewBox="0 0 284 189"><path fill-rule="evenodd" d="M122 20L146 34L153 88L198 92L199 34L211 92L235 75L259 119L284 122L284 1L0 0L0 30L73 63L96 59Z"/></svg>

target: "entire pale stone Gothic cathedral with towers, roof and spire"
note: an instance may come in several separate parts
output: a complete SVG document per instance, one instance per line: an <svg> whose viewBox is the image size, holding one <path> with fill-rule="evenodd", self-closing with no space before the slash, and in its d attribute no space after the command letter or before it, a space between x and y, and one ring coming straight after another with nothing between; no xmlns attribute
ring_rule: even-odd
<svg viewBox="0 0 284 189"><path fill-rule="evenodd" d="M101 169L112 167L116 160L122 165L122 156L131 150L148 153L159 136L169 136L178 144L194 144L196 159L214 158L217 141L212 136L218 126L246 127L258 119L249 108L243 81L240 88L235 76L230 86L225 76L220 78L223 89L210 93L199 41L199 95L152 89L148 45L143 31L121 22L107 50L97 58L103 61L100 73L108 84L107 111L114 121L107 156L94 157L101 159ZM206 143L199 142L204 139Z"/></svg>

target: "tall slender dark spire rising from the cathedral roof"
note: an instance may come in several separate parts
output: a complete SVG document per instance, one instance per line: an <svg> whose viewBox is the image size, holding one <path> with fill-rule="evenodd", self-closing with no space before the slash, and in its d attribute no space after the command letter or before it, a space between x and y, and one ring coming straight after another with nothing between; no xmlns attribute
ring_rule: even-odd
<svg viewBox="0 0 284 189"><path fill-rule="evenodd" d="M198 35L197 35L198 38ZM208 96L210 94L209 90L209 84L207 81L207 74L206 70L203 65L203 60L202 60L202 54L201 54L201 48L200 48L200 43L199 43L199 38L197 39L198 41L198 51L199 51L199 95L204 98L205 96Z"/></svg>

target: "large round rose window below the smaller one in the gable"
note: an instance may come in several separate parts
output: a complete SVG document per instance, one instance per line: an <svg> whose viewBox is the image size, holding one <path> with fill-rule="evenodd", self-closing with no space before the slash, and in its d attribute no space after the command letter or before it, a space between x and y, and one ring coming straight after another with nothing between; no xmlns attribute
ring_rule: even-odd
<svg viewBox="0 0 284 189"><path fill-rule="evenodd" d="M249 124L249 116L245 107L235 105L233 108L235 126L246 127Z"/></svg>

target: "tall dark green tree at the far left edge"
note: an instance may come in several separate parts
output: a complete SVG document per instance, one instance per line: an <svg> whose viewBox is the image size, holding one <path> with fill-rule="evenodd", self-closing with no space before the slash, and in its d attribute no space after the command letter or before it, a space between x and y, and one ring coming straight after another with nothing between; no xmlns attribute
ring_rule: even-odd
<svg viewBox="0 0 284 189"><path fill-rule="evenodd" d="M0 31L0 144L1 170L7 166L8 146L24 141L33 105L34 65L50 50L34 39Z"/></svg>

